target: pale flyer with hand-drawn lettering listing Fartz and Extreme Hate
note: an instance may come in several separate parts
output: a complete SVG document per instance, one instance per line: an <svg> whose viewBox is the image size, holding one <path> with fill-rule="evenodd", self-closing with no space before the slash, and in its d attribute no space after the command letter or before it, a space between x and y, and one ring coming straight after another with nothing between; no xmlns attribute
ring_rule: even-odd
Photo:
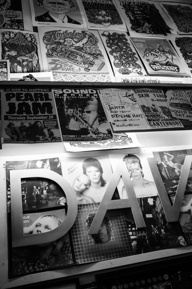
<svg viewBox="0 0 192 289"><path fill-rule="evenodd" d="M113 131L150 129L132 89L100 89Z"/></svg>

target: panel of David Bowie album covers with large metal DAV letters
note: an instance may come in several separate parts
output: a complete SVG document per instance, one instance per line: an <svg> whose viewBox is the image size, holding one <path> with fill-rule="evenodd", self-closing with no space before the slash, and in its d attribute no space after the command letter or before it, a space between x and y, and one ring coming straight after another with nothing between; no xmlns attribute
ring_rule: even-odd
<svg viewBox="0 0 192 289"><path fill-rule="evenodd" d="M191 160L186 149L7 161L9 277L191 244Z"/></svg>

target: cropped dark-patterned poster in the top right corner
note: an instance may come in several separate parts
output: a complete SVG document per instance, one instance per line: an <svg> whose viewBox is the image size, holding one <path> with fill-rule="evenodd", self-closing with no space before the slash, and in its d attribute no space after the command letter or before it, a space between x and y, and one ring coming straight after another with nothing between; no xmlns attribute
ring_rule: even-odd
<svg viewBox="0 0 192 289"><path fill-rule="evenodd" d="M192 7L189 4L160 2L167 16L172 20L178 34L192 33Z"/></svg>

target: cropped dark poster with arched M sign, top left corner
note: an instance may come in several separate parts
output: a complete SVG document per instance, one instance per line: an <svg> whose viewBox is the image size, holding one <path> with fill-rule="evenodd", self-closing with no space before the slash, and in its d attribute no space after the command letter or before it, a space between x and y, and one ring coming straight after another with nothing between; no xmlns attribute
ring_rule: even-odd
<svg viewBox="0 0 192 289"><path fill-rule="evenodd" d="M0 0L0 28L24 30L21 0Z"/></svg>

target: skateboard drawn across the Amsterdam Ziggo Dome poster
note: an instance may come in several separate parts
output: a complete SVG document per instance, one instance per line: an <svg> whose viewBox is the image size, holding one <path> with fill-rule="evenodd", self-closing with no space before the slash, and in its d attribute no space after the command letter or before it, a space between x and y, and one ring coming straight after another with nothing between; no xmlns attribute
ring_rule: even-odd
<svg viewBox="0 0 192 289"><path fill-rule="evenodd" d="M58 57L66 60L72 64L83 67L86 72L90 70L99 71L105 65L105 62L98 59L98 56L85 53L83 48L78 47L78 49L74 49L67 47L59 41L56 41L48 51L47 57Z"/></svg>

